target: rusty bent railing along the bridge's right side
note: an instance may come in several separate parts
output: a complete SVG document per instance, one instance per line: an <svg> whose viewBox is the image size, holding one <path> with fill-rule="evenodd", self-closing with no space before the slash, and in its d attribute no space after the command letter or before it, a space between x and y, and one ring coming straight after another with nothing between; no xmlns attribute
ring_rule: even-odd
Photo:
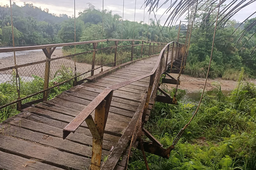
<svg viewBox="0 0 256 170"><path fill-rule="evenodd" d="M160 81L161 74L166 71L170 61L174 58L178 58L181 51L182 45L172 41L166 44L160 51L157 62L150 73L111 85L106 87L93 101L91 101L64 129L63 139L65 139L71 132L75 132L76 129L85 121L88 128L93 135L93 146L91 156L92 170L112 170L117 165L120 157L122 156L125 148L127 147L128 141L131 139L131 143L136 140L137 132L139 127L144 122L146 112L150 98L153 94L156 94L158 83ZM151 47L150 47L151 50ZM149 51L150 51L149 50ZM169 53L171 52L171 56ZM175 54L175 55L174 55ZM136 82L138 80L150 77L149 86L146 95L143 97L136 113L132 120L128 124L125 132L119 139L117 145L114 147L108 159L101 167L101 154L102 154L102 142L103 134L108 118L108 113L111 105L113 91L128 84ZM154 93L155 92L155 93ZM91 116L91 113L95 111L95 118Z"/></svg>

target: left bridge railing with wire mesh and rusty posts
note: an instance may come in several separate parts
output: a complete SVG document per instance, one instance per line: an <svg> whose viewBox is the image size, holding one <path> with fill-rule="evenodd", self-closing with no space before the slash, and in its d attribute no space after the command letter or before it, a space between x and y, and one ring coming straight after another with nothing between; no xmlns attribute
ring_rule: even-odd
<svg viewBox="0 0 256 170"><path fill-rule="evenodd" d="M102 39L0 48L0 55L10 52L16 54L16 57L7 58L7 65L0 66L0 87L6 89L5 98L0 102L0 109L6 109L4 112L8 112L9 107L16 107L20 111L32 104L46 101L66 90L63 85L77 85L105 69L157 54L163 45L164 43L145 40ZM31 50L36 50L36 53L31 53ZM40 50L43 52L40 53ZM24 51L27 54L31 53L30 60L24 56Z"/></svg>

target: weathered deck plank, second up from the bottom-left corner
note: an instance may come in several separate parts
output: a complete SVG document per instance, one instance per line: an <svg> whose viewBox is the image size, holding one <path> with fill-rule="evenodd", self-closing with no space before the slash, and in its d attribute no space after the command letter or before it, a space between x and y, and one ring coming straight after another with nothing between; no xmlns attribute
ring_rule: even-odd
<svg viewBox="0 0 256 170"><path fill-rule="evenodd" d="M89 169L90 159L82 156L61 152L50 147L44 147L25 140L0 135L0 150L25 158L35 158L43 163L51 164L63 169Z"/></svg>

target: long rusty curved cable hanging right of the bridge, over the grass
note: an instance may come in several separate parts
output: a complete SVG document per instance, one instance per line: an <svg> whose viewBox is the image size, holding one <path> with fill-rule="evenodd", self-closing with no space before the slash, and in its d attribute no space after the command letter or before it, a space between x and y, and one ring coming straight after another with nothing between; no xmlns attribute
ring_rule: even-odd
<svg viewBox="0 0 256 170"><path fill-rule="evenodd" d="M221 0L219 0L219 2L221 2ZM214 33L213 33L211 57L210 57L209 66L208 66L208 70L207 70L207 74L206 74L206 78L205 78L205 82L204 82L203 91L202 91L202 95L201 95L200 101L199 101L199 103L198 103L198 106L197 106L197 109L196 109L195 113L193 114L193 116L191 117L191 119L189 120L189 122L180 130L180 132L177 134L177 136L176 136L175 139L173 140L172 146L175 146L175 145L177 144L177 142L180 140L180 138L181 138L182 134L184 133L185 129L187 129L188 125L191 123L191 121L194 119L195 115L197 114L198 109L199 109L199 107L200 107L200 104L201 104L201 102L202 102L202 98L203 98L205 86L206 86L207 79L208 79L208 75L209 75L209 71L210 71L210 68L211 68L211 61L212 61L214 40L215 40L217 22L218 22L218 17L219 17L219 7L220 7L220 5L218 6L218 12L217 12L217 17L216 17L216 22L215 22Z"/></svg>

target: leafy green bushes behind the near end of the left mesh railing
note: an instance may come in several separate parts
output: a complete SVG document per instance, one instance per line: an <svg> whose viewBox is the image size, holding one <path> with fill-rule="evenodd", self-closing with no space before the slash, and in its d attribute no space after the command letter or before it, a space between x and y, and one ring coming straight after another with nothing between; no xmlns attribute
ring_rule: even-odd
<svg viewBox="0 0 256 170"><path fill-rule="evenodd" d="M54 78L49 81L49 87L66 81L72 78L73 72L70 68L61 67L57 70L54 74ZM20 97L26 97L33 93L36 93L40 90L43 90L44 79L38 77L37 75L32 75L33 79L31 81L24 81L20 78ZM64 83L58 87L52 88L49 92L48 99L54 98L55 96L59 95L61 92L69 89L72 87L72 81ZM22 102L27 103L33 100L41 99L43 97L42 94L33 96L31 98L25 99ZM9 82L0 83L0 105L4 105L10 103L12 101L17 100L18 94L16 92L16 80L15 76ZM6 120L7 118L18 114L19 112L16 110L16 104L10 105L0 110L0 122Z"/></svg>

